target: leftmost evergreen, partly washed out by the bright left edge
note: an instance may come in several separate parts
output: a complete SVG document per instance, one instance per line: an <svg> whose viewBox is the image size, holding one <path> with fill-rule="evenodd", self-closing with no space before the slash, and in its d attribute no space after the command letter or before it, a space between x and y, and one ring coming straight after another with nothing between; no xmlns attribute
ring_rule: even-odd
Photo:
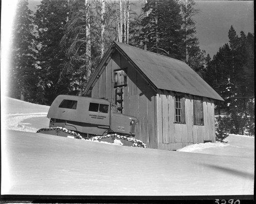
<svg viewBox="0 0 256 204"><path fill-rule="evenodd" d="M10 70L11 97L34 101L38 84L35 66L35 36L32 11L28 0L20 0L14 21L12 69Z"/></svg>

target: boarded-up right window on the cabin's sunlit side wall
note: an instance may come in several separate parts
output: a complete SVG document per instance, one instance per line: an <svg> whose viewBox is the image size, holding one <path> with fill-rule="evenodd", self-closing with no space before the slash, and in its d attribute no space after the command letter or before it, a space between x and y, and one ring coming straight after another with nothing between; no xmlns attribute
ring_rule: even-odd
<svg viewBox="0 0 256 204"><path fill-rule="evenodd" d="M203 97L193 96L194 124L204 125Z"/></svg>

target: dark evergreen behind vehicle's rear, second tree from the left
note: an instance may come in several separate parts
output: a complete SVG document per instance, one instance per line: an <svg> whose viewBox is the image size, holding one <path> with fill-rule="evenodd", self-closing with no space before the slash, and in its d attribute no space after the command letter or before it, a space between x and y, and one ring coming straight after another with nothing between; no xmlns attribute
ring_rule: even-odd
<svg viewBox="0 0 256 204"><path fill-rule="evenodd" d="M72 79L62 72L66 64L66 54L59 43L65 32L68 19L69 1L42 0L35 13L38 32L37 62L40 67L40 96L42 103L51 105L59 94L69 92Z"/></svg>

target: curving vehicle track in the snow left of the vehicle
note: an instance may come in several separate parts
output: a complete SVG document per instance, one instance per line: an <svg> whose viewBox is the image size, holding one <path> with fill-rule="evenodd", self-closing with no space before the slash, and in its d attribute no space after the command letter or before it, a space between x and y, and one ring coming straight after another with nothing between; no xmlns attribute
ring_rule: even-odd
<svg viewBox="0 0 256 204"><path fill-rule="evenodd" d="M46 117L47 113L10 113L6 115L3 126L7 130L36 132L38 129L27 126L28 123L22 121L28 118Z"/></svg>

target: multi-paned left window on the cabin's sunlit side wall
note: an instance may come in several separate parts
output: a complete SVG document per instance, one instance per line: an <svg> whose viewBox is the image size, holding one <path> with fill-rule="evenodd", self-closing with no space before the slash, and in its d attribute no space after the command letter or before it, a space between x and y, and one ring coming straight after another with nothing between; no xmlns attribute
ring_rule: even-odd
<svg viewBox="0 0 256 204"><path fill-rule="evenodd" d="M184 95L175 96L175 122L186 123Z"/></svg>

